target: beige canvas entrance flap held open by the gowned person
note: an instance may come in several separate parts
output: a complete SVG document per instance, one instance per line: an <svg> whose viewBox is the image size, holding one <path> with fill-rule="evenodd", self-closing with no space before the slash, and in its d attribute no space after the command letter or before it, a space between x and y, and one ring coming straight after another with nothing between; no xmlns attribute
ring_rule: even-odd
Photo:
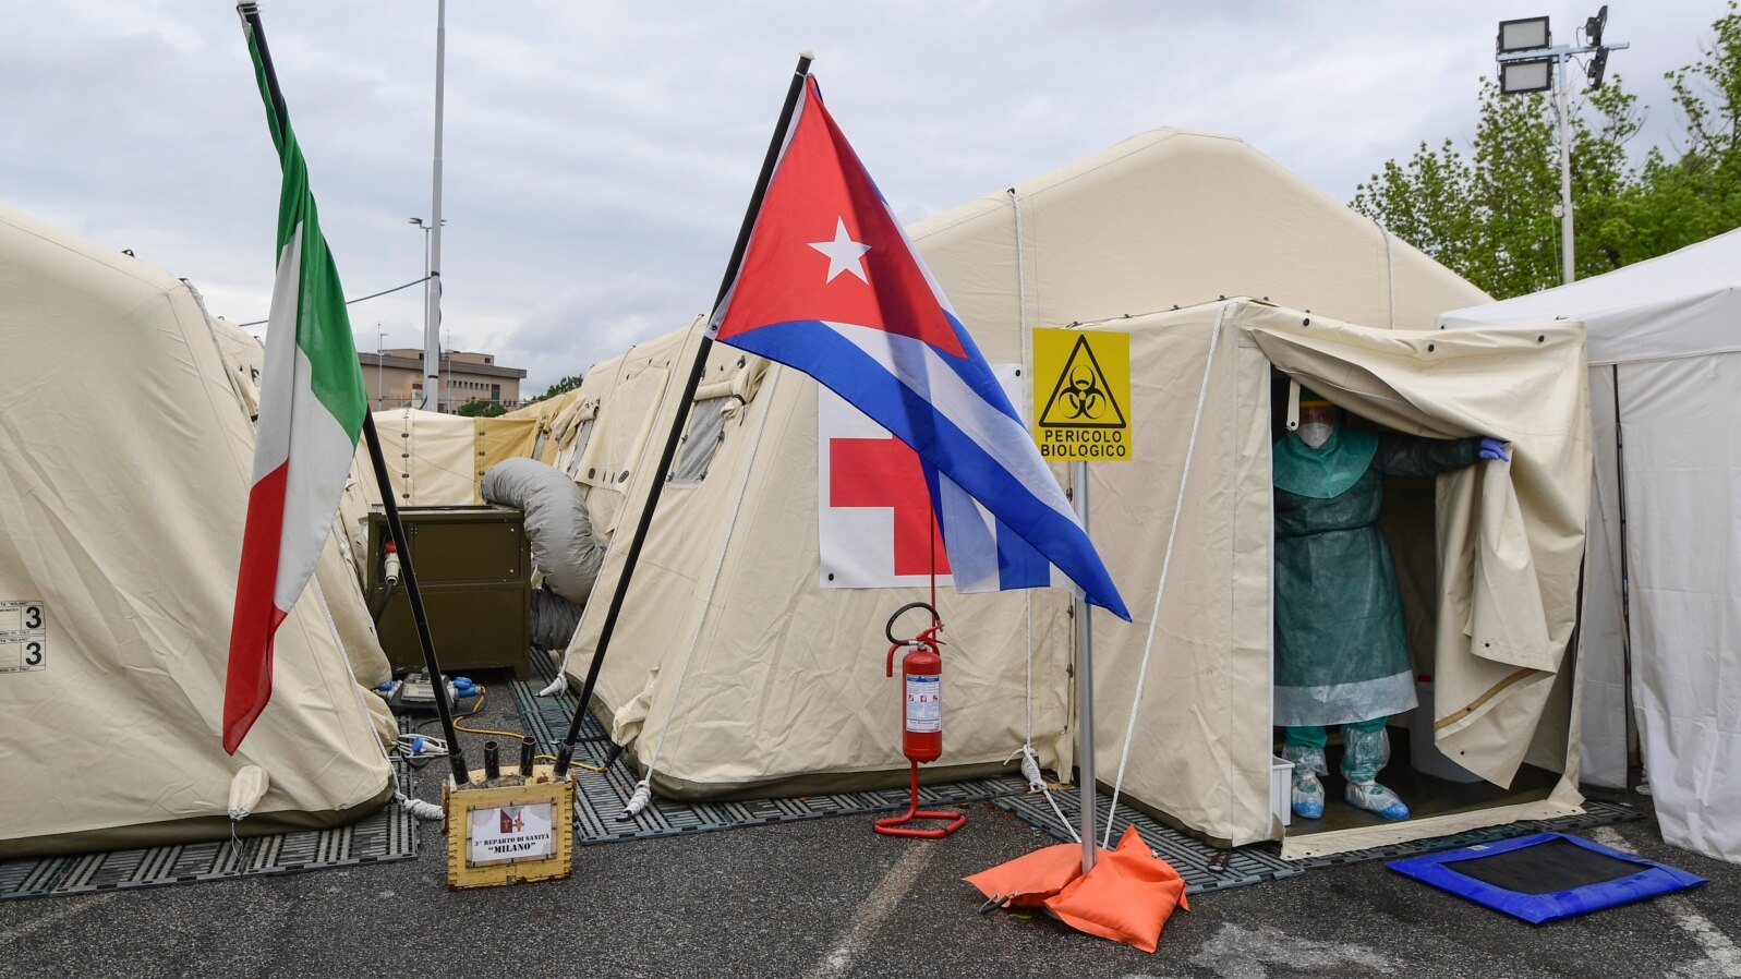
<svg viewBox="0 0 1741 979"><path fill-rule="evenodd" d="M1435 678L1438 747L1511 784L1543 716L1560 714L1549 693L1576 622L1590 408L1565 378L1583 371L1581 333L1400 333L1255 314L1247 329L1269 362L1348 413L1410 435L1511 442L1511 463L1436 479L1436 582L1415 592L1438 610L1429 657L1417 660ZM1527 413L1520 390L1536 392Z"/></svg>

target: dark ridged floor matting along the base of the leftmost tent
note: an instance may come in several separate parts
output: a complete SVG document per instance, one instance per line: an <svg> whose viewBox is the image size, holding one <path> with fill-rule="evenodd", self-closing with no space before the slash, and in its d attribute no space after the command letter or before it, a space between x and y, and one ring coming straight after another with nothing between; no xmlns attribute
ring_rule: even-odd
<svg viewBox="0 0 1741 979"><path fill-rule="evenodd" d="M416 854L416 820L397 803L387 803L374 815L338 829L0 861L0 901L352 868L407 861Z"/></svg>

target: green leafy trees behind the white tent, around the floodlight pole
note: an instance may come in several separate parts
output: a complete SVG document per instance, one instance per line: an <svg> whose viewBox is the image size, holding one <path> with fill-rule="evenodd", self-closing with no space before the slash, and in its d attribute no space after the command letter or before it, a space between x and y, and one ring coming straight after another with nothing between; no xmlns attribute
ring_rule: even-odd
<svg viewBox="0 0 1741 979"><path fill-rule="evenodd" d="M1678 146L1628 162L1637 96L1616 75L1581 92L1570 113L1574 256L1579 279L1741 226L1741 12L1713 24L1701 59L1670 71ZM1576 73L1574 73L1576 77ZM1475 139L1426 143L1389 160L1351 207L1496 298L1562 282L1560 157L1555 101L1501 96L1482 84ZM1671 152L1678 155L1671 157Z"/></svg>

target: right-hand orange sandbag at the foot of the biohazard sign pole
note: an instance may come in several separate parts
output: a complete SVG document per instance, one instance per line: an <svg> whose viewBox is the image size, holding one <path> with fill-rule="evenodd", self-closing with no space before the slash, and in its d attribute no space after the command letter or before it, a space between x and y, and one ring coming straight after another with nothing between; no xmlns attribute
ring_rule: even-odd
<svg viewBox="0 0 1741 979"><path fill-rule="evenodd" d="M1064 847L1081 855L1079 847ZM1186 881L1172 864L1149 852L1135 826L1125 829L1116 850L1100 854L1092 871L1045 901L1046 911L1090 935L1154 951L1173 908L1191 909Z"/></svg>

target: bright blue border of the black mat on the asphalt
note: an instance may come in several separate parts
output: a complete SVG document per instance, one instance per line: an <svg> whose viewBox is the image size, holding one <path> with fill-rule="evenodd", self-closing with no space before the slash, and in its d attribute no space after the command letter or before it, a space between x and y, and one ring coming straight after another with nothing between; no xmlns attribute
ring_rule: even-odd
<svg viewBox="0 0 1741 979"><path fill-rule="evenodd" d="M1556 890L1551 894L1518 894L1515 890L1478 881L1454 869L1461 861L1492 857L1496 854L1522 850L1523 847L1536 847L1537 843L1549 843L1553 840L1565 840L1567 843L1602 854L1603 857L1638 864L1640 869L1630 876L1574 887L1570 890ZM1612 850L1602 843L1593 843L1583 836L1570 836L1565 833L1536 833L1530 836L1518 836L1516 840L1501 840L1499 843L1480 843L1461 850L1447 850L1443 854L1391 861L1384 866L1403 876L1412 876L1421 883L1449 890L1457 897L1469 899L1485 908L1492 908L1494 911L1504 911L1506 915L1522 918L1532 925L1572 918L1590 911L1602 911L1603 908L1616 908L1619 904L1631 904L1633 901L1645 901L1706 883L1704 878L1689 874L1687 871L1645 861L1635 854Z"/></svg>

